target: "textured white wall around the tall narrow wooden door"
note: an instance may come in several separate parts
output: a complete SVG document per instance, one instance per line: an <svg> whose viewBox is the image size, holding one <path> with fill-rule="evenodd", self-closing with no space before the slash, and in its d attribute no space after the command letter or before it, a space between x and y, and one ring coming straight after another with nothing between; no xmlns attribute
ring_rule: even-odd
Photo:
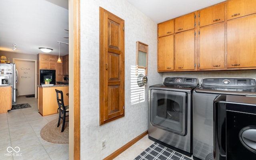
<svg viewBox="0 0 256 160"><path fill-rule="evenodd" d="M99 126L99 7L125 25L125 117ZM148 86L162 83L157 68L157 24L125 0L80 1L81 159L100 160L148 130ZM141 101L132 101L136 41L148 44L148 84ZM136 86L136 85L135 85ZM144 96L144 98L143 98ZM106 139L106 148L100 142Z"/></svg>

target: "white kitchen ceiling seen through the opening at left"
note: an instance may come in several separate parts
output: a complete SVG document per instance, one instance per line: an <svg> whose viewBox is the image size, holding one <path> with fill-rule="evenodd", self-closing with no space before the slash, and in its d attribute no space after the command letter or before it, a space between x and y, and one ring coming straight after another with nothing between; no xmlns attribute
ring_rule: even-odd
<svg viewBox="0 0 256 160"><path fill-rule="evenodd" d="M0 0L0 50L16 53L42 53L68 43L68 0ZM13 51L13 44L16 50ZM60 55L68 55L68 45L60 43Z"/></svg>

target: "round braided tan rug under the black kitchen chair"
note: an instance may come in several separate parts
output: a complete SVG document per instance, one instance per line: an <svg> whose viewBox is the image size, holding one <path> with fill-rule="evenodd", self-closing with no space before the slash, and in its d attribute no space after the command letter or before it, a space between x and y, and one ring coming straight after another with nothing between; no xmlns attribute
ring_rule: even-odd
<svg viewBox="0 0 256 160"><path fill-rule="evenodd" d="M62 119L60 119L60 126L58 119L54 119L47 123L40 131L42 139L51 143L68 144L68 122L65 123L64 131L61 132Z"/></svg>

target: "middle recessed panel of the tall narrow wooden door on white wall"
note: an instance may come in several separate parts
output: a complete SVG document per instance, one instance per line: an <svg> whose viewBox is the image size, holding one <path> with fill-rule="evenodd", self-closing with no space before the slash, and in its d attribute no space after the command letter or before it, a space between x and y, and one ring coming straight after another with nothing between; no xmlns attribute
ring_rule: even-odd
<svg viewBox="0 0 256 160"><path fill-rule="evenodd" d="M108 81L120 80L120 56L108 53Z"/></svg>

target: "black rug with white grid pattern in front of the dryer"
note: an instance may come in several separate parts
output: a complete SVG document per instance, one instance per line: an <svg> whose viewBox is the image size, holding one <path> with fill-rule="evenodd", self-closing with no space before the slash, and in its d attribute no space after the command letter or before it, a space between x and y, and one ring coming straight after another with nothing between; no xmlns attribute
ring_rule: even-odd
<svg viewBox="0 0 256 160"><path fill-rule="evenodd" d="M191 160L186 156L154 142L134 160Z"/></svg>

